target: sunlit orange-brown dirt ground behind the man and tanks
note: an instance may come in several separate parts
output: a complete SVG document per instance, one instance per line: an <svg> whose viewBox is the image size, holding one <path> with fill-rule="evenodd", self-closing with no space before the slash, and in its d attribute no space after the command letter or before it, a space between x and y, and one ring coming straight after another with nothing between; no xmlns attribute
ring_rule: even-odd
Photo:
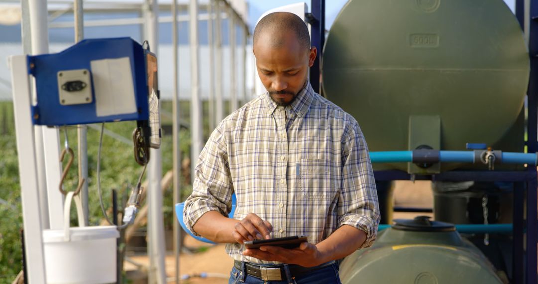
<svg viewBox="0 0 538 284"><path fill-rule="evenodd" d="M394 205L399 207L433 207L433 193L431 191L431 183L428 181L398 181L394 189ZM393 218L413 218L418 215L432 214L424 213L404 213L394 212ZM193 276L189 279L182 280L184 284L221 284L228 283L228 275L233 265L233 260L224 252L224 245L209 245L199 242L190 236L186 237L186 245L189 247L207 247L203 252L188 254L181 253L180 255L180 275L196 275L203 272L215 275L213 277L201 278ZM146 256L131 257L131 259L148 264ZM166 272L168 275L168 283L175 283L175 257L170 254L166 257ZM136 269L136 266L125 262L125 269Z"/></svg>

